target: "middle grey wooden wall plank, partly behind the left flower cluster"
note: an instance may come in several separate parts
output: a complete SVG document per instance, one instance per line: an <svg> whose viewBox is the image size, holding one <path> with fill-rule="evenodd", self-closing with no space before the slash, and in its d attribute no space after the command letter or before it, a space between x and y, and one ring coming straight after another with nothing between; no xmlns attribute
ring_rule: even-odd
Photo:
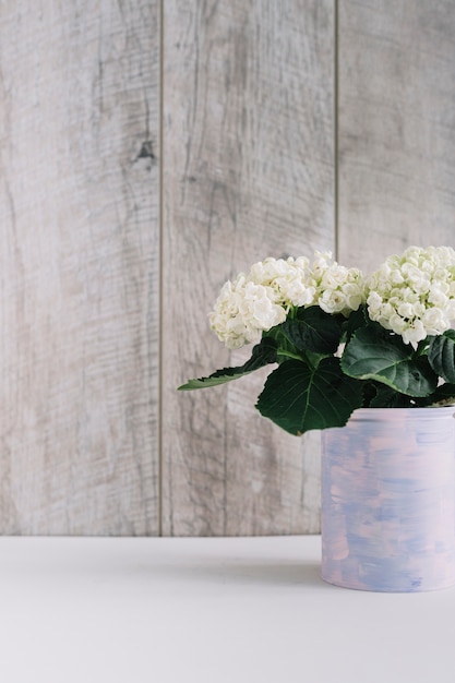
<svg viewBox="0 0 455 683"><path fill-rule="evenodd" d="M176 387L244 357L208 328L226 279L334 244L333 35L332 0L165 3L165 535L319 530L320 435L260 417L265 374Z"/></svg>

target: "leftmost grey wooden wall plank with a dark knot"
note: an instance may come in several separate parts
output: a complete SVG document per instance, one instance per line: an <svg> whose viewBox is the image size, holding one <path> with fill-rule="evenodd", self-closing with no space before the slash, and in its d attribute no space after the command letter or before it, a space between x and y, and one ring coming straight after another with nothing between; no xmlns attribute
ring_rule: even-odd
<svg viewBox="0 0 455 683"><path fill-rule="evenodd" d="M158 1L0 7L0 532L158 532Z"/></svg>

